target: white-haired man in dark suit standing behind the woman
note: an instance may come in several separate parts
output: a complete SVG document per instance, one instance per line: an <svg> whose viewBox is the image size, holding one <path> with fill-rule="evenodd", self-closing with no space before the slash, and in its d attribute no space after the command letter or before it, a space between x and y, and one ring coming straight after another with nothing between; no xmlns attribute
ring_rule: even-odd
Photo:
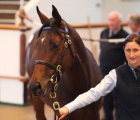
<svg viewBox="0 0 140 120"><path fill-rule="evenodd" d="M117 11L112 11L108 16L108 28L101 32L101 39L119 39L126 38L128 33L121 26L121 14ZM107 75L110 70L122 65L125 62L123 52L123 43L100 43L100 68L103 75ZM113 102L115 100L115 90L110 92L104 98L104 113L103 120L113 120Z"/></svg>

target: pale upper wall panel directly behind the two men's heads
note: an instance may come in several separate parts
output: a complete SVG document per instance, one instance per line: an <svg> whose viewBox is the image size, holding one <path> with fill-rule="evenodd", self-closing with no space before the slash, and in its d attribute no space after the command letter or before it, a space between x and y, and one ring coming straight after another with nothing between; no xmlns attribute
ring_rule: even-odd
<svg viewBox="0 0 140 120"><path fill-rule="evenodd" d="M126 21L131 13L140 14L139 0L102 0L101 1L101 21L106 22L110 11L118 11L122 14L122 20Z"/></svg>

